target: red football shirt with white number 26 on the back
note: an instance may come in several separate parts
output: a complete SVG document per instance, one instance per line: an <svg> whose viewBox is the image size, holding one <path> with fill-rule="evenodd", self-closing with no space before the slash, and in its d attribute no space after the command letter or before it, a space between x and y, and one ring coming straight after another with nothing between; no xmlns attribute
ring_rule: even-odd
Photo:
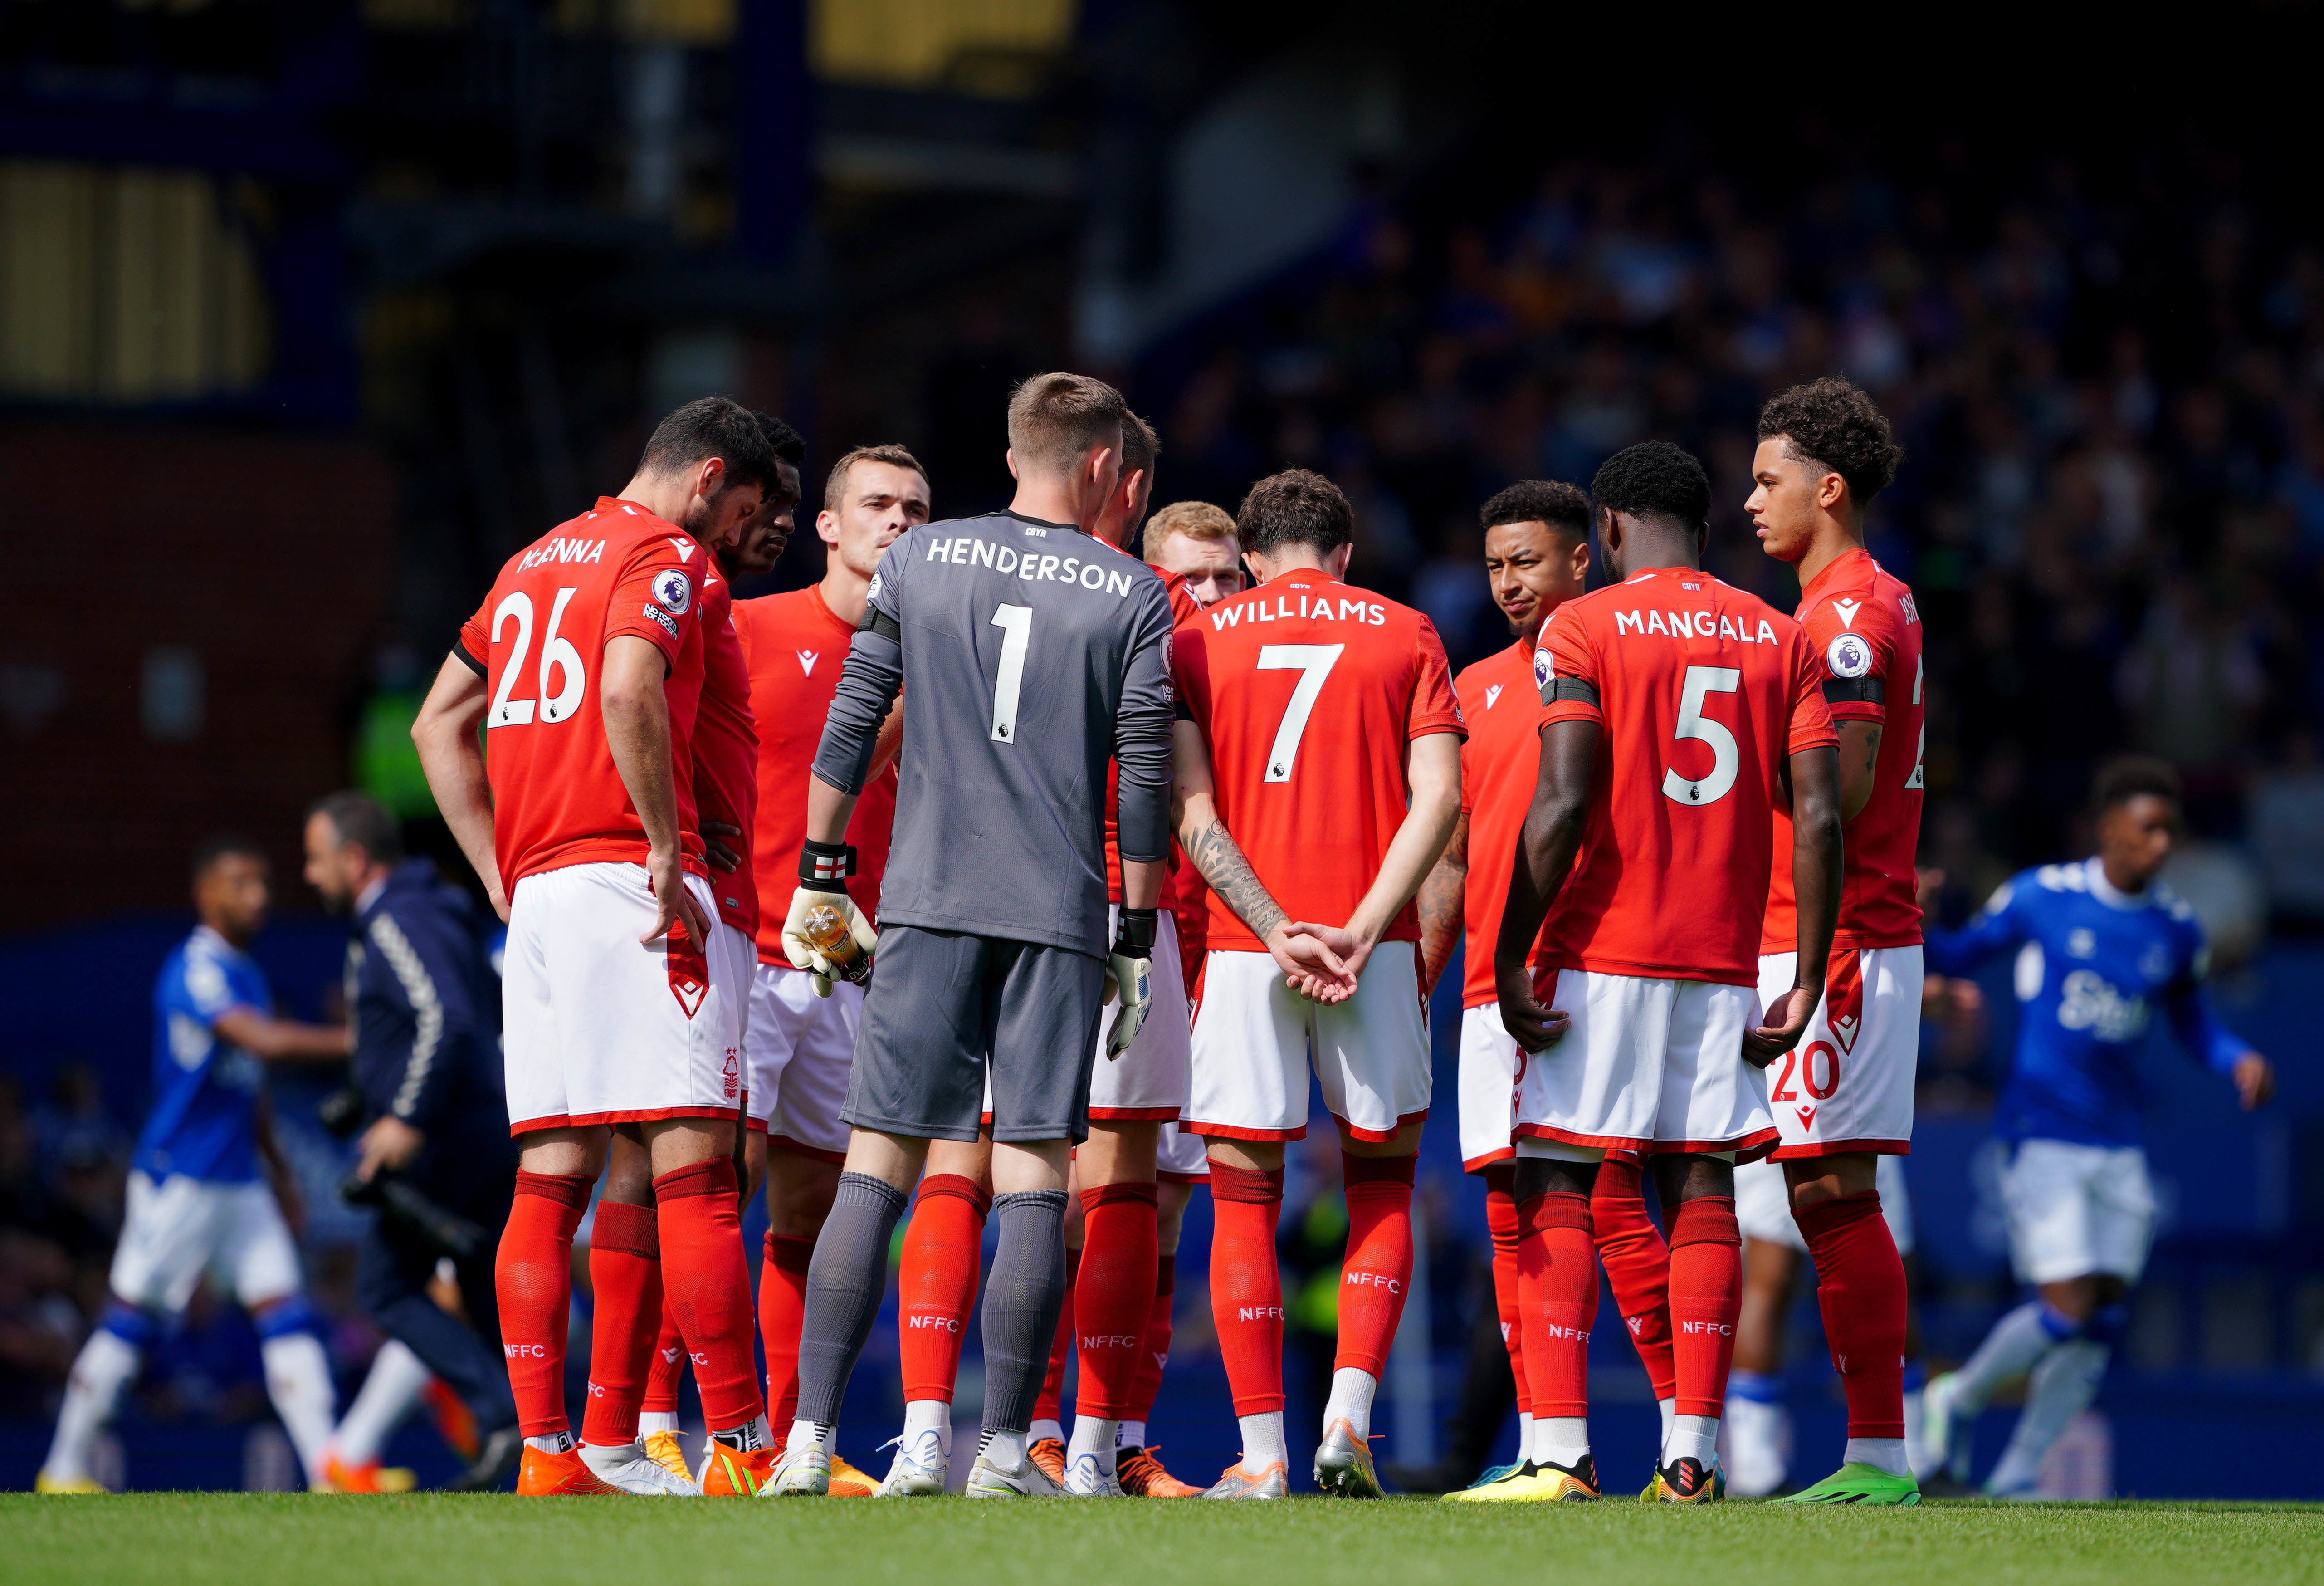
<svg viewBox="0 0 2324 1586"><path fill-rule="evenodd" d="M637 502L597 498L518 551L460 628L460 658L488 688L483 760L493 779L500 884L600 860L646 863L646 828L604 742L604 646L634 635L669 663L672 772L686 867L700 874L693 730L702 693L702 542Z"/></svg>

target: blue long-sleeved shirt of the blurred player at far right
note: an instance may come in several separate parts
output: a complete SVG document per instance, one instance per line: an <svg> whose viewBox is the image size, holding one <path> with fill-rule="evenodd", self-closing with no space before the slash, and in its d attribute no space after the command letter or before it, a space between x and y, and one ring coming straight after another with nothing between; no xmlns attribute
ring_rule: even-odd
<svg viewBox="0 0 2324 1586"><path fill-rule="evenodd" d="M1994 1112L2003 1140L2136 1146L2136 1056L2154 1005L2180 1044L2226 1074L2250 1051L2210 1009L2210 949L2164 884L2124 893L2096 858L2024 870L1961 930L1929 928L1927 965L1968 974L2017 951L2017 1063Z"/></svg>

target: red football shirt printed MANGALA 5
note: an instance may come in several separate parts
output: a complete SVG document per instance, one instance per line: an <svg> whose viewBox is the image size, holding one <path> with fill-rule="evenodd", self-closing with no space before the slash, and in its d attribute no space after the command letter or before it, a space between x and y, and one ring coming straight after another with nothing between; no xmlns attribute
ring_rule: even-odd
<svg viewBox="0 0 2324 1586"><path fill-rule="evenodd" d="M1650 567L1557 607L1534 677L1541 726L1601 726L1543 960L1755 986L1783 763L1841 742L1808 635L1708 572Z"/></svg>

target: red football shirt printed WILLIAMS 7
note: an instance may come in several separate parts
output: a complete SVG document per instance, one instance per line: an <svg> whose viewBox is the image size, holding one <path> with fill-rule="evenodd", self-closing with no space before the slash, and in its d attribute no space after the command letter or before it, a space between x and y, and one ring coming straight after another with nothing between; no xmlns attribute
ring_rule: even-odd
<svg viewBox="0 0 2324 1586"><path fill-rule="evenodd" d="M1292 919L1343 923L1404 826L1406 744L1466 735L1436 628L1371 591L1292 570L1206 607L1171 649L1234 842ZM1264 951L1215 895L1206 937L1211 951ZM1385 940L1420 940L1411 905Z"/></svg>

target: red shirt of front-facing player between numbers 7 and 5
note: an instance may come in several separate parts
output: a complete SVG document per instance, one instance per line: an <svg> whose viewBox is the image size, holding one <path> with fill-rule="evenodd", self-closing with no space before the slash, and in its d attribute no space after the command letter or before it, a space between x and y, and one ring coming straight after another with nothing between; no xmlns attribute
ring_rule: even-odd
<svg viewBox="0 0 2324 1586"><path fill-rule="evenodd" d="M1459 749L1459 807L1469 816L1469 879L1462 886L1462 1007L1485 1007L1492 986L1492 944L1501 935L1508 902L1508 867L1518 856L1525 812L1534 807L1541 777L1541 695L1534 693L1534 646L1518 640L1452 679L1469 742ZM1501 709L1501 707L1508 709ZM1541 942L1534 940L1534 963Z"/></svg>

